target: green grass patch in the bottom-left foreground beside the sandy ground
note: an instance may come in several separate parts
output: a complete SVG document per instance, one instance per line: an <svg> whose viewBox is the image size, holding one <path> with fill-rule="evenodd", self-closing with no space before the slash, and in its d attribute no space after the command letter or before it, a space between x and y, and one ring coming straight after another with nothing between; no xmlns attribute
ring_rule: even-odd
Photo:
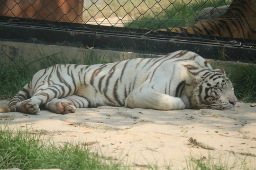
<svg viewBox="0 0 256 170"><path fill-rule="evenodd" d="M120 164L91 153L82 144L54 144L42 134L0 130L0 169L117 170Z"/></svg>

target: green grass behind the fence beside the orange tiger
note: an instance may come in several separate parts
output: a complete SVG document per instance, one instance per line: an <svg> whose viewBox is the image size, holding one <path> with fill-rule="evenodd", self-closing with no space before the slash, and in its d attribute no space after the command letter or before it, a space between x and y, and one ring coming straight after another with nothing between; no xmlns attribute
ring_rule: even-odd
<svg viewBox="0 0 256 170"><path fill-rule="evenodd" d="M155 15L138 15L137 19L128 22L126 26L130 28L160 29L167 27L191 26L194 24L196 16L203 8L218 7L230 4L231 0L198 0L184 3L175 1L165 10L159 10ZM155 11L154 11L155 12Z"/></svg>

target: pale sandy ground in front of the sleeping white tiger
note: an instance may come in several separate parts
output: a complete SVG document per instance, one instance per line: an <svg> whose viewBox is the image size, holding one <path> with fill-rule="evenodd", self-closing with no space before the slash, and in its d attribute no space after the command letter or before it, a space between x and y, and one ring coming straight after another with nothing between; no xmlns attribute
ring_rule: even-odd
<svg viewBox="0 0 256 170"><path fill-rule="evenodd" d="M0 106L8 102L1 101ZM191 156L238 166L246 158L246 165L255 169L256 107L252 106L238 103L236 111L99 107L66 115L46 110L36 115L0 113L0 119L12 128L42 131L55 142L90 145L91 151L136 169L151 164L182 170Z"/></svg>

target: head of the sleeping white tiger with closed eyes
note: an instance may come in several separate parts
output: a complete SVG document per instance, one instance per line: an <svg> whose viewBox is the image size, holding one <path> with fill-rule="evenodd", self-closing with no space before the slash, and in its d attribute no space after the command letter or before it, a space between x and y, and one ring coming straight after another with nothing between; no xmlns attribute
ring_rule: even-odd
<svg viewBox="0 0 256 170"><path fill-rule="evenodd" d="M197 79L193 97L198 108L236 110L238 99L223 68L206 70Z"/></svg>

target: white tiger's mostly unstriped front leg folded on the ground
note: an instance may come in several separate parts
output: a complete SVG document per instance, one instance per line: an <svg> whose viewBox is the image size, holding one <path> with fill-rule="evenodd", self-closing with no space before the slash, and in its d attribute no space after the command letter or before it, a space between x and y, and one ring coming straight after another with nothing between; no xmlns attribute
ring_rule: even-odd
<svg viewBox="0 0 256 170"><path fill-rule="evenodd" d="M155 110L181 110L185 104L178 97L159 93L149 86L142 86L128 95L125 107Z"/></svg>

